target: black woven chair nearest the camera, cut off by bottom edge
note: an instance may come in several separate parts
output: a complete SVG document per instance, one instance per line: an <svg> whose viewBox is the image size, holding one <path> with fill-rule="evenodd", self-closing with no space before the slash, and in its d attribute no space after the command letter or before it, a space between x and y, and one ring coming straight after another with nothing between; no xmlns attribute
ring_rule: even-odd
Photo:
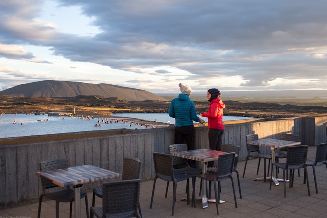
<svg viewBox="0 0 327 218"><path fill-rule="evenodd" d="M94 215L97 218L141 218L137 212L140 179L105 182L102 193L102 207L91 207L91 218Z"/></svg>

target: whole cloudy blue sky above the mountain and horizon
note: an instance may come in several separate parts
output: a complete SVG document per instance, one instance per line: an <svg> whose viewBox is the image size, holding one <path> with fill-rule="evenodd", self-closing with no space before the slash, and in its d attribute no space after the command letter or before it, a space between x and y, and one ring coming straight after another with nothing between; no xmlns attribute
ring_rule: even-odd
<svg viewBox="0 0 327 218"><path fill-rule="evenodd" d="M327 90L326 0L0 0L0 91Z"/></svg>

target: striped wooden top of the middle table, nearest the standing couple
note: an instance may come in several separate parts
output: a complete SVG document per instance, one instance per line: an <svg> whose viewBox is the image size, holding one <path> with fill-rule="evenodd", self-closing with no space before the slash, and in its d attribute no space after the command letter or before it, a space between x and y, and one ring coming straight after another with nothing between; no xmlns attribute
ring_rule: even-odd
<svg viewBox="0 0 327 218"><path fill-rule="evenodd" d="M173 152L171 155L181 158L187 158L195 161L208 162L208 161L216 160L219 157L219 155L225 153L226 152L216 151L208 148L202 148L202 149L195 149L189 151Z"/></svg>

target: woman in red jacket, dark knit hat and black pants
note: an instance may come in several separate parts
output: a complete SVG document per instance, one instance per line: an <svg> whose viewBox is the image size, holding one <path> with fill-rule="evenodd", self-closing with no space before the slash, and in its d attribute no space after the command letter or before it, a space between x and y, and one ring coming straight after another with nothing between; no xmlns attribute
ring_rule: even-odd
<svg viewBox="0 0 327 218"><path fill-rule="evenodd" d="M202 113L201 116L208 118L208 139L209 148L221 151L222 134L225 127L222 122L223 109L225 103L219 99L221 92L218 89L209 89L207 91L207 99L210 102L208 113ZM213 167L214 162L208 162L208 167Z"/></svg>

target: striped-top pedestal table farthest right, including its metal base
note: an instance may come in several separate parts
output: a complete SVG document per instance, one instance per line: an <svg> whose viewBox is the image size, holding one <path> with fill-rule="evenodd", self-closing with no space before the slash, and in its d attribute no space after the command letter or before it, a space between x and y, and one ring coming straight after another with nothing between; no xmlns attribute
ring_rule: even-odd
<svg viewBox="0 0 327 218"><path fill-rule="evenodd" d="M273 165L272 163L275 161L275 151L276 149L280 149L287 146L294 146L294 145L301 145L301 142L294 142L294 141L287 141L287 140L280 140L280 139L272 139L272 138L266 138L266 139L259 139L254 141L249 141L247 144L250 145L258 145L263 147L270 147L272 152L272 180L275 183L275 185L279 185L279 181L284 181L283 179L278 179L273 176ZM254 180L262 180L264 178L256 178ZM270 179L270 177L267 177L266 179Z"/></svg>

